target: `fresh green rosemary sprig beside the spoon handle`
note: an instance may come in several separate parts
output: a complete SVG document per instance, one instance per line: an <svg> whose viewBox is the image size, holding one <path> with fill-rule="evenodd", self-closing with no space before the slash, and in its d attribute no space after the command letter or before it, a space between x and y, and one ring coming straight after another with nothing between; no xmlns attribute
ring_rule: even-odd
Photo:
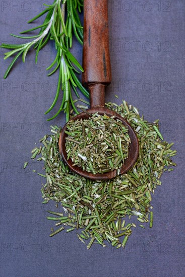
<svg viewBox="0 0 185 277"><path fill-rule="evenodd" d="M54 40L55 48L57 51L56 57L54 61L47 67L47 70L51 70L48 76L51 76L56 71L58 71L58 85L53 103L45 112L45 114L50 112L55 106L61 88L64 93L60 108L55 115L47 120L55 118L61 111L64 111L66 113L66 120L68 121L70 116L70 106L73 107L76 114L79 113L74 104L71 89L74 90L78 98L79 94L76 89L77 87L86 97L89 98L88 91L82 86L81 82L76 76L76 73L80 74L81 72L83 72L83 68L70 52L70 48L72 47L73 42L73 33L79 43L83 44L83 26L80 22L78 14L78 11L81 12L83 8L83 0L54 0L52 5L45 6L47 8L44 11L28 21L28 23L31 23L46 14L43 24L20 33L25 34L40 29L38 35L17 36L11 34L12 36L20 39L33 39L31 42L27 42L24 44L3 43L0 46L2 48L13 49L5 53L4 59L9 58L13 54L16 54L9 67L7 68L4 78L7 78L10 71L12 70L14 63L21 54L23 62L25 62L26 55L29 49L33 46L36 51L35 62L37 63L39 51L48 43L49 40ZM65 19L66 10L67 16Z"/></svg>

